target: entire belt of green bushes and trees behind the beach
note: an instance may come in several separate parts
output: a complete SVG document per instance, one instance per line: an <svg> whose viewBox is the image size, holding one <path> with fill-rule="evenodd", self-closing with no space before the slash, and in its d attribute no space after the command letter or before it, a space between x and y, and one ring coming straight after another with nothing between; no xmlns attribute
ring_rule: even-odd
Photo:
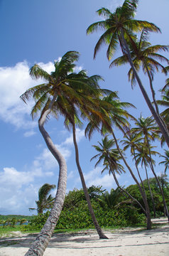
<svg viewBox="0 0 169 256"><path fill-rule="evenodd" d="M163 186L165 198L169 198L169 183L165 176L158 177ZM156 203L156 217L164 216L163 198L156 178L150 178L149 183L153 193L154 202ZM150 207L151 216L153 217L153 202L148 186L148 181L144 180L143 185L146 191L148 206ZM138 206L135 200L126 196L120 188L111 188L108 192L102 189L102 186L91 186L88 189L89 198L92 208L97 217L99 225L103 228L116 228L131 225L145 225L146 218L143 210ZM139 193L137 185L130 185L125 190L143 204L143 198ZM169 206L169 201L167 201ZM40 213L31 219L28 225L23 226L22 230L39 230L45 224L49 211ZM65 196L65 202L60 214L60 219L55 230L94 228L87 202L85 200L84 191L82 189L74 189L69 191Z"/></svg>

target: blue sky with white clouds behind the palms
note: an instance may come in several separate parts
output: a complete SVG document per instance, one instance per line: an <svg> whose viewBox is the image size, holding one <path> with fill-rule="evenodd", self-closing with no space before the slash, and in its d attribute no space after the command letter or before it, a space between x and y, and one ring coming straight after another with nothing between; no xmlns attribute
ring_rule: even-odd
<svg viewBox="0 0 169 256"><path fill-rule="evenodd" d="M38 198L38 188L44 183L57 184L58 164L46 149L45 142L38 131L37 119L32 121L30 112L33 102L24 105L19 96L33 85L35 81L28 75L34 63L39 63L45 70L53 70L53 62L68 50L80 52L77 68L88 71L89 75L102 75L104 82L100 85L107 89L119 91L121 101L131 102L137 110L131 110L135 117L150 112L144 103L141 92L136 86L131 90L127 71L129 66L109 69L106 48L102 48L93 60L94 46L101 32L86 35L87 27L99 21L96 14L100 7L114 11L123 1L117 0L1 0L0 1L0 127L1 127L1 161L0 161L0 214L31 214L29 207L34 207ZM161 34L152 34L152 44L168 45L168 0L140 0L136 18L156 23ZM119 51L115 57L121 55ZM168 57L168 53L165 54ZM148 80L141 74L141 80L148 87ZM154 87L158 90L165 84L165 77L155 75ZM149 90L148 90L149 93ZM50 119L46 125L53 142L58 146L67 160L67 191L81 188L79 174L75 165L75 152L72 134L62 123ZM117 137L121 137L115 131ZM84 171L87 186L100 186L110 190L116 187L114 180L107 173L100 174L102 166L94 169L94 161L89 160L97 154L92 144L100 140L95 133L89 142L84 137L84 127L77 131L80 149L80 163ZM160 151L163 154L163 151ZM160 159L161 161L161 159ZM158 166L159 174L163 166ZM129 163L134 170L131 159ZM151 176L151 174L150 174ZM134 183L126 171L119 177L121 185Z"/></svg>

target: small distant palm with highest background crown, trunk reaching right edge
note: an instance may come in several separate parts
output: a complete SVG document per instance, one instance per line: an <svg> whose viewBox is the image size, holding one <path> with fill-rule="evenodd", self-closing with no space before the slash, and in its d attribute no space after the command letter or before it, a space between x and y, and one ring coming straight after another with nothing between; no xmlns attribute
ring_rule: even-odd
<svg viewBox="0 0 169 256"><path fill-rule="evenodd" d="M137 127L133 128L132 130L133 130L133 132L136 132L137 134L141 134L141 135L144 136L144 143L146 144L147 149L148 149L149 164L150 164L150 167L151 167L151 171L153 172L153 175L155 176L156 181L158 183L158 186L160 188L160 193L163 197L163 204L164 204L166 214L167 214L168 220L169 220L169 213L168 213L168 207L165 203L165 196L164 196L163 190L160 186L158 176L156 175L156 172L153 168L154 163L153 163L153 159L151 157L152 153L151 153L150 140L152 141L156 137L158 137L157 127L156 127L155 122L153 121L153 119L151 117L147 117L146 119L144 119L143 117L140 117L135 124L137 125Z"/></svg>

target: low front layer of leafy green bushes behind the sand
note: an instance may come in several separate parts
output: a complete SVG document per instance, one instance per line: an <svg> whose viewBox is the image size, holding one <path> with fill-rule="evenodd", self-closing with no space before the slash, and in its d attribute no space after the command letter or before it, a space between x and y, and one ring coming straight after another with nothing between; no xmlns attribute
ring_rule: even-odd
<svg viewBox="0 0 169 256"><path fill-rule="evenodd" d="M117 226L127 226L143 224L145 217L138 213L136 208L102 208L97 201L92 200L92 206L97 221L101 227L114 228ZM47 220L49 212L37 215L28 225L24 225L23 230L40 230L43 228ZM81 201L78 206L72 208L64 208L60 214L60 218L56 225L56 230L64 229L86 229L94 228L92 218L89 213L87 202Z"/></svg>

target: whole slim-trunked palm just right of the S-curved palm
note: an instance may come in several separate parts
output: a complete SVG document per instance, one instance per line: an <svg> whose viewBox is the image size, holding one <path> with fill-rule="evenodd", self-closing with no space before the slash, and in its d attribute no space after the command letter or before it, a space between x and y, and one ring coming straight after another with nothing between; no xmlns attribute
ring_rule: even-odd
<svg viewBox="0 0 169 256"><path fill-rule="evenodd" d="M99 227L97 218L94 215L92 203L89 198L87 186L84 181L84 175L82 172L82 168L80 166L79 149L77 146L77 139L76 139L76 127L81 126L82 124L82 122L78 117L78 112L81 113L82 117L89 118L90 112L95 111L94 109L95 109L96 100L102 92L102 90L99 89L98 80L102 78L99 75L93 75L92 77L88 77L84 70L80 71L80 73L78 73L77 76L79 77L79 80L77 81L75 97L72 97L71 102L69 100L62 101L62 98L58 97L58 100L55 102L55 105L53 106L53 110L57 112L58 106L59 106L60 110L62 111L62 115L65 117L65 126L69 130L72 129L73 142L75 146L75 160L77 164L77 169L80 174L84 196L87 200L89 213L91 214L91 217L92 217L94 226L97 230L97 233L99 235L99 238L107 239L107 236L104 235L102 228ZM75 81L74 81L74 85L75 85Z"/></svg>

